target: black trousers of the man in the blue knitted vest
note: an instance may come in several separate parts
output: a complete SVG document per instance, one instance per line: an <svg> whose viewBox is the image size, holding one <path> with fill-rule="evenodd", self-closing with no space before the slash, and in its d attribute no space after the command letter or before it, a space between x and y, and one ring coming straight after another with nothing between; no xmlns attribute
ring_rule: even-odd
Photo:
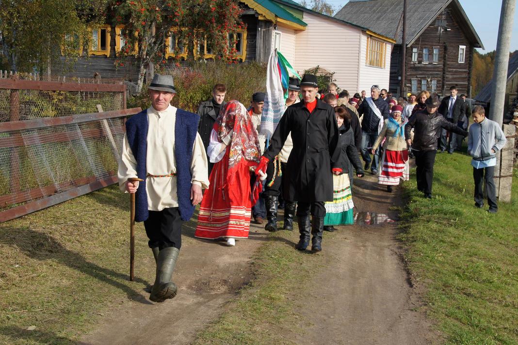
<svg viewBox="0 0 518 345"><path fill-rule="evenodd" d="M182 246L182 224L178 207L164 208L162 211L149 211L149 217L144 221L146 235L150 248Z"/></svg>

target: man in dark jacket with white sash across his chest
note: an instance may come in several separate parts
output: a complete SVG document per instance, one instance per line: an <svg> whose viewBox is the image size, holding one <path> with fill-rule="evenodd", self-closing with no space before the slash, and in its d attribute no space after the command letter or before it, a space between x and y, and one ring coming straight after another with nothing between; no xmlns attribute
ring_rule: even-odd
<svg viewBox="0 0 518 345"><path fill-rule="evenodd" d="M386 90L385 90L386 92ZM376 111L372 107L376 108ZM380 162L379 147L374 152L372 159L370 158L370 149L378 138L378 134L383 127L384 121L389 118L389 103L380 97L380 87L372 85L370 88L370 97L365 98L365 101L358 107L359 116L363 115L362 120L362 157L365 161L364 170L369 169L372 175L378 173L378 164Z"/></svg>

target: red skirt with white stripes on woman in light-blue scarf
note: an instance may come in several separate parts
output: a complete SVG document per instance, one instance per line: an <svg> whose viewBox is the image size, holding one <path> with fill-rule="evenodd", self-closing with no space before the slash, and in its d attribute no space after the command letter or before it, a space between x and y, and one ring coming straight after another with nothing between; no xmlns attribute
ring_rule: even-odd
<svg viewBox="0 0 518 345"><path fill-rule="evenodd" d="M397 186L400 180L408 181L410 171L408 167L408 150L384 150L380 166L378 184Z"/></svg>

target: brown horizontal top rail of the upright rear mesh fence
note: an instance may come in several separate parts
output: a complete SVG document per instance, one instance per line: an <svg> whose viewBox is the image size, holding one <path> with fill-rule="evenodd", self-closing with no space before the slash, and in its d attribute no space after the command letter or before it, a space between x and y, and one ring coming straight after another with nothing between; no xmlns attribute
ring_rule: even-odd
<svg viewBox="0 0 518 345"><path fill-rule="evenodd" d="M33 81L1 79L0 89L23 89L41 91L84 91L84 92L125 92L124 84L80 84L53 81Z"/></svg>

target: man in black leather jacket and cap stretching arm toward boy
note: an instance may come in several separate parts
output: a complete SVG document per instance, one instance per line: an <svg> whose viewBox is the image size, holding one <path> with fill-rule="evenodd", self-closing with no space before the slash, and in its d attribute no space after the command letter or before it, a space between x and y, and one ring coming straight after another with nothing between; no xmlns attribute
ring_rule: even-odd
<svg viewBox="0 0 518 345"><path fill-rule="evenodd" d="M426 110L416 112L405 126L405 139L412 145L417 166L416 179L418 190L425 198L431 199L431 182L434 177L435 155L437 153L437 138L442 128L462 136L467 136L464 129L457 127L437 112L439 98L431 96L426 99ZM410 139L410 130L414 129L414 139Z"/></svg>

